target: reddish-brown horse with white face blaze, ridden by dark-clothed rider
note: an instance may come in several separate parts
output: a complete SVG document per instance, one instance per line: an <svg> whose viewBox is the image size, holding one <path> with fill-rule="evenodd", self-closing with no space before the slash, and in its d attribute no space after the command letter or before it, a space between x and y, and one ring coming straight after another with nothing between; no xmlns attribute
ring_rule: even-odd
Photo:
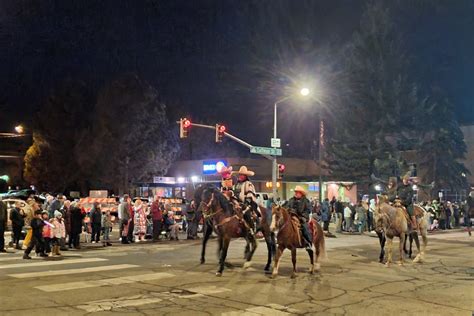
<svg viewBox="0 0 474 316"><path fill-rule="evenodd" d="M313 245L316 250L316 257L314 258L313 249L307 249L309 259L311 262L311 268L309 269L310 273L314 271L319 271L320 269L320 259L321 257L326 256L324 233L321 226L312 219L311 230ZM285 249L291 250L291 261L293 263L293 273L292 278L296 277L296 249L304 248L303 237L300 233L299 220L292 216L289 210L285 207L274 205L272 208L272 231L278 229L277 234L277 253L275 257L275 265L273 267L272 276L275 277L278 275L278 268L280 266L281 256ZM316 261L316 267L315 267Z"/></svg>

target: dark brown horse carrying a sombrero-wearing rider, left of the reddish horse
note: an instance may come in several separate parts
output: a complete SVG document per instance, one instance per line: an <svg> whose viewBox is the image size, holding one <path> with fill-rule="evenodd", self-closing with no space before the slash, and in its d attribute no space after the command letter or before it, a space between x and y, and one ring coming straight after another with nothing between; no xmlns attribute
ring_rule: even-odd
<svg viewBox="0 0 474 316"><path fill-rule="evenodd" d="M245 226L245 223L240 220L239 216L236 216L235 210L233 210L233 204L228 201L228 199L214 186L211 185L202 185L199 188L196 189L195 194L194 194L195 202L196 205L199 205L199 210L204 211L207 213L207 216L205 217L204 220L204 228L203 228L203 240L202 240L202 250L201 250L201 264L206 262L205 256L206 256L206 245L207 242L212 235L212 232L215 231L218 236L220 235L220 232L223 231L229 231L231 232L230 234L226 234L227 237L230 238L238 238L238 237L244 237L247 240L247 245L245 247L245 254L244 258L247 260L245 263L245 267L248 267L250 265L250 260L253 253L255 252L256 248L256 243L255 246L252 247L253 241L254 241L254 236L248 236L248 228ZM212 203L210 201L212 200ZM210 204L209 204L210 203ZM267 250L268 250L268 259L267 259L267 264L265 265L265 271L270 271L271 264L272 264L272 258L274 257L275 254L275 234L270 230L270 224L271 224L271 212L269 213L269 210L266 208L260 206L260 213L262 214L260 224L257 227L257 230L261 231L264 238L265 242L267 244ZM218 209L225 210L224 214L222 212L217 213ZM207 211L206 211L207 210ZM214 214L214 215L213 215ZM223 222L223 225L219 225L219 223L224 220L224 217L232 217L232 219L225 219L225 222ZM237 222L239 223L237 225ZM230 226L233 227L230 229ZM239 234L236 232L239 231ZM244 236L245 235L245 236ZM227 238L228 239L228 238ZM230 240L228 241L230 242ZM219 240L219 258L222 258L222 250L225 242L224 239ZM225 253L225 256L227 255L227 250ZM225 260L224 256L224 260ZM220 265L226 264L225 261L222 262L220 261ZM223 268L222 268L223 270ZM221 271L222 273L222 271Z"/></svg>

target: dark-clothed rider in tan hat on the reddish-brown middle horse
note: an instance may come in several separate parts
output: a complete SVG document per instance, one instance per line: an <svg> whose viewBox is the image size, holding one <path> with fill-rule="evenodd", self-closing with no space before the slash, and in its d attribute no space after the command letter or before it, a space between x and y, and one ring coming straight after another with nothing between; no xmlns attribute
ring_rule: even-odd
<svg viewBox="0 0 474 316"><path fill-rule="evenodd" d="M305 242L305 248L309 250L312 246L308 229L311 202L306 197L306 190L302 186L297 185L294 191L295 195L288 201L287 207L294 215L296 215L296 217L298 217L300 221L301 235Z"/></svg>

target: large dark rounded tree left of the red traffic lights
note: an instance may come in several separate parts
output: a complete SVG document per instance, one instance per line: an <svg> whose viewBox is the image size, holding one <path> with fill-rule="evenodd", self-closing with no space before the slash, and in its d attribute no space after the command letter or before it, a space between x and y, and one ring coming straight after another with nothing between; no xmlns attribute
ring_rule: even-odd
<svg viewBox="0 0 474 316"><path fill-rule="evenodd" d="M99 93L87 152L80 160L94 187L126 192L131 183L164 175L179 152L177 131L154 88L135 75L108 84Z"/></svg>

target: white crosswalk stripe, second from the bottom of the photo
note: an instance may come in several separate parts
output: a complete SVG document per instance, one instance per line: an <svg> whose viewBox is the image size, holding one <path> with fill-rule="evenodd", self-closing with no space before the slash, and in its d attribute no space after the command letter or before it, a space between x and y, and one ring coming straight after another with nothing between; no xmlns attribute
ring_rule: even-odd
<svg viewBox="0 0 474 316"><path fill-rule="evenodd" d="M127 277L103 279L103 280L89 280L89 281L42 285L42 286L36 286L35 289L38 289L44 292L58 292L58 291L67 291L67 290L76 290L76 289L87 289L91 287L99 287L99 286L106 286L106 285L129 284L129 283L135 283L139 281L158 280L158 279L170 278L173 276L174 274L157 272L157 273L132 275L132 276L127 276Z"/></svg>

